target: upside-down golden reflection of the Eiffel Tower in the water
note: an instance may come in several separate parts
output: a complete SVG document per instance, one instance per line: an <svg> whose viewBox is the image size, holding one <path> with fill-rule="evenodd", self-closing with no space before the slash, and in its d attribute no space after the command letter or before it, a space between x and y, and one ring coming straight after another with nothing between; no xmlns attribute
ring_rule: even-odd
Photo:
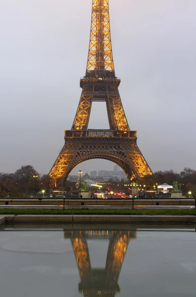
<svg viewBox="0 0 196 297"><path fill-rule="evenodd" d="M118 278L124 256L131 238L137 231L64 231L70 238L76 256L81 282L79 292L85 297L114 297L120 288ZM109 239L105 268L91 268L87 239Z"/></svg>

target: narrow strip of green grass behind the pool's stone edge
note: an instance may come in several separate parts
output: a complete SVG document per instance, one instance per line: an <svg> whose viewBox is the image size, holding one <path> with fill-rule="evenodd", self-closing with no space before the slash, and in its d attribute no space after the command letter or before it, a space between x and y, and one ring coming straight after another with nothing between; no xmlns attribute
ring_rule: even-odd
<svg viewBox="0 0 196 297"><path fill-rule="evenodd" d="M79 215L196 215L196 209L0 209L0 214L45 214L45 215L62 215L62 214L79 214Z"/></svg>

